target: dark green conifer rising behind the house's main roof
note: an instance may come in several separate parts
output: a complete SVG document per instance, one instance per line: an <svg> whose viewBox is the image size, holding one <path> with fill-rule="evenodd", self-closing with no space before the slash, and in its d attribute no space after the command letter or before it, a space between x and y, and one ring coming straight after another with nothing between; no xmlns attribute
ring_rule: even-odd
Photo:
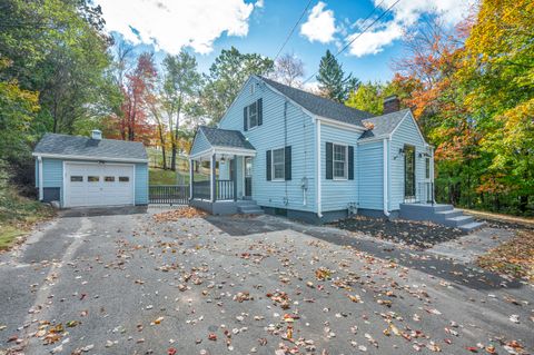
<svg viewBox="0 0 534 355"><path fill-rule="evenodd" d="M343 66L329 50L326 50L325 56L320 58L319 72L316 78L322 95L337 102L345 102L350 91L354 91L359 85L359 80L353 78L352 75L345 77Z"/></svg>

